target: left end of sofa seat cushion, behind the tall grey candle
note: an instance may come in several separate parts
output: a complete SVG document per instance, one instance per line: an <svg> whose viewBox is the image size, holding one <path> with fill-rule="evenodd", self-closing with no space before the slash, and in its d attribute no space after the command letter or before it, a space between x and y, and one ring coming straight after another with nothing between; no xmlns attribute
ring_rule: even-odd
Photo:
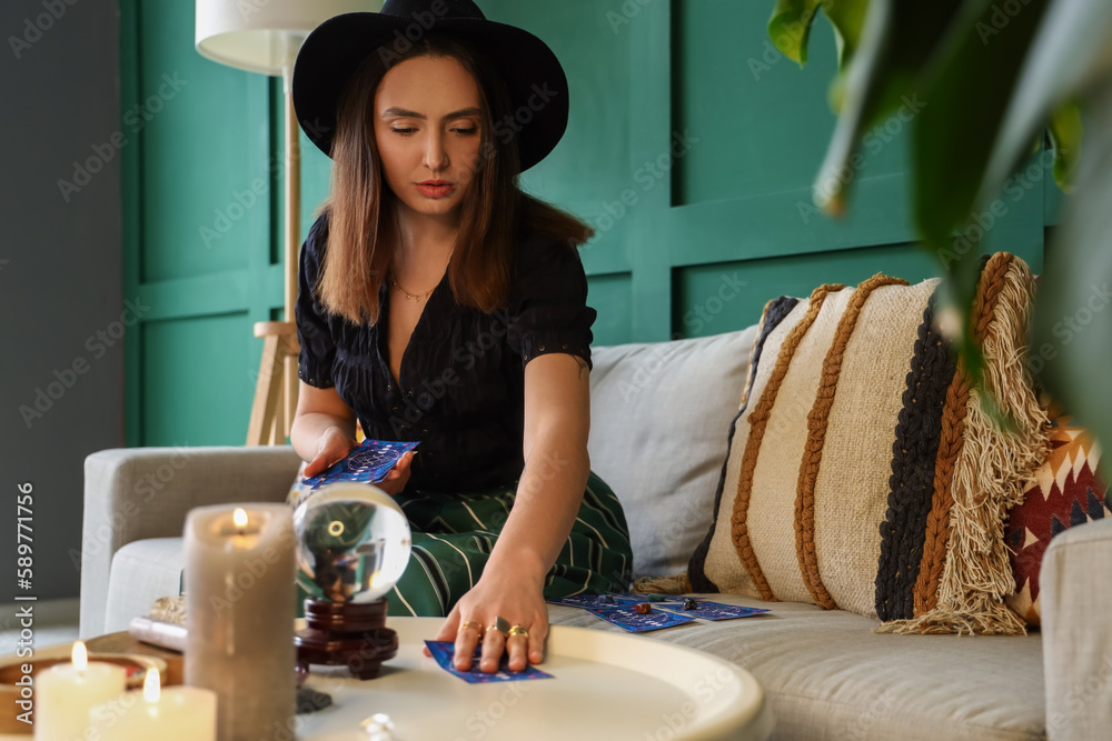
<svg viewBox="0 0 1112 741"><path fill-rule="evenodd" d="M150 613L155 600L181 593L186 564L181 538L148 538L116 551L108 577L105 632L127 630L132 618Z"/></svg>

